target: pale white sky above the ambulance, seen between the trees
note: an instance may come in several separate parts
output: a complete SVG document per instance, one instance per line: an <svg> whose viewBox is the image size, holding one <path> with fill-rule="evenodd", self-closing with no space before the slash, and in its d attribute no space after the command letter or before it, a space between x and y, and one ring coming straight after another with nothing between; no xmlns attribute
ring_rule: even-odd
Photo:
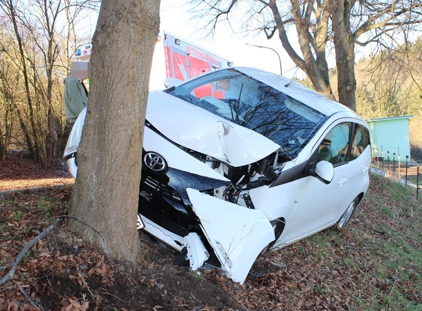
<svg viewBox="0 0 422 311"><path fill-rule="evenodd" d="M276 50L280 55L283 76L299 79L305 77L305 74L294 65L287 52L283 49L277 33L268 40L264 33L258 35L246 32L242 34L233 33L227 24L221 23L213 36L207 36L207 31L204 29L201 30L198 20L192 18L192 14L188 12L192 6L189 6L187 1L161 0L161 30L229 59L233 61L235 66L248 66L280 74L280 62L276 52L269 49L250 47L246 43L269 47ZM85 21L82 23L85 26L81 31L92 35L95 30L96 19L97 16L95 15L85 16ZM231 23L233 28L241 28L236 24L241 23L241 21L232 18ZM287 30L287 35L293 48L301 55L296 30ZM371 49L369 47L360 49L356 46L356 61L360 58L367 57L370 53ZM329 67L335 65L333 53L327 55L327 62Z"/></svg>

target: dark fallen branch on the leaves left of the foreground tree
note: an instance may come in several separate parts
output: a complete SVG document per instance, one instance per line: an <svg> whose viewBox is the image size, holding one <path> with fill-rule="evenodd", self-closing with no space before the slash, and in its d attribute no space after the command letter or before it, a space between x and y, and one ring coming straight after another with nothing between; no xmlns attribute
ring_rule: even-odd
<svg viewBox="0 0 422 311"><path fill-rule="evenodd" d="M47 234L49 234L50 232L52 232L54 229L56 229L61 222L63 221L64 218L71 218L77 221L80 221L82 224L88 226L89 228L91 228L92 230L94 230L100 237L102 240L103 237L101 235L100 232L98 232L97 230L95 230L94 228L92 228L90 225L84 223L82 220L73 217L73 216L68 216L68 215L61 215L58 216L53 224L51 224L50 226L48 226L46 229L43 230L43 232L41 232L40 234L38 234L36 237L34 237L32 240L30 240L29 242L27 242L24 246L24 248L22 249L22 251L19 252L19 254L17 254L17 256L15 257L15 260L13 260L13 262L11 262L9 264L10 270L9 272L2 278L0 279L0 285L3 285L4 283L6 283L7 281L9 281L10 279L13 278L17 265L20 263L20 261L22 261L22 259L25 257L25 254L28 253L28 251L31 249L31 247L33 247L35 245L36 242L38 242L39 240L43 239L44 237L47 236ZM2 267L2 268L6 268L6 266Z"/></svg>

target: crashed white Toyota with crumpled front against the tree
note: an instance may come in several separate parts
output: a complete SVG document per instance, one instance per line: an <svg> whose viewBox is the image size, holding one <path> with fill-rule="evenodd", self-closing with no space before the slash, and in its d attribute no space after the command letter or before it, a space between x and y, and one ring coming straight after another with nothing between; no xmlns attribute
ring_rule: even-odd
<svg viewBox="0 0 422 311"><path fill-rule="evenodd" d="M64 157L76 176L85 111ZM367 123L290 79L250 68L149 94L138 228L244 282L261 252L337 225L369 185Z"/></svg>

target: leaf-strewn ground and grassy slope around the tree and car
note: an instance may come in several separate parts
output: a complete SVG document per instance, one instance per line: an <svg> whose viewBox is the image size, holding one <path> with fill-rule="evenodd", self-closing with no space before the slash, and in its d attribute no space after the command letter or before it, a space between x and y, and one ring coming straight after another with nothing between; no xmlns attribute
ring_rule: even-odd
<svg viewBox="0 0 422 311"><path fill-rule="evenodd" d="M2 187L70 179L60 161L43 171L20 156L0 162ZM422 226L415 222L422 216L420 201L382 177L371 178L346 230L329 228L260 256L244 284L219 270L174 265L178 254L143 232L138 264L127 266L69 232L65 221L0 285L0 309L420 310ZM27 241L67 214L72 189L0 194L0 278Z"/></svg>

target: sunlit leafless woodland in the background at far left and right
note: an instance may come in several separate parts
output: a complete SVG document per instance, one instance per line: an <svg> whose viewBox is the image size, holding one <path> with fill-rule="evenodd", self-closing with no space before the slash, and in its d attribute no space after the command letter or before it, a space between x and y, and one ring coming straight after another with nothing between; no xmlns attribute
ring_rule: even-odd
<svg viewBox="0 0 422 311"><path fill-rule="evenodd" d="M77 47L90 42L88 35L79 36L76 24L82 15L97 11L99 2L14 3L19 2L0 0L0 157L5 160L8 150L26 149L47 168L61 157L70 131L62 81ZM411 158L422 154L421 60L421 37L355 59L357 113L366 119L412 115ZM335 66L329 78L337 98ZM312 88L308 79L300 82Z"/></svg>

